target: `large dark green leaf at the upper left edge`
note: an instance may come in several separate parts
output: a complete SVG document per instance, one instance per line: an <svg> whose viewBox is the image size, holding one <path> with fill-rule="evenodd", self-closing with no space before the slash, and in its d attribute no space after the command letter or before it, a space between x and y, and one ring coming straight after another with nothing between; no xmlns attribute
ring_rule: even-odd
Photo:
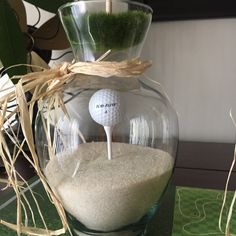
<svg viewBox="0 0 236 236"><path fill-rule="evenodd" d="M7 0L0 1L0 60L5 68L27 62L26 44L16 15ZM7 71L9 76L26 74L26 67Z"/></svg>

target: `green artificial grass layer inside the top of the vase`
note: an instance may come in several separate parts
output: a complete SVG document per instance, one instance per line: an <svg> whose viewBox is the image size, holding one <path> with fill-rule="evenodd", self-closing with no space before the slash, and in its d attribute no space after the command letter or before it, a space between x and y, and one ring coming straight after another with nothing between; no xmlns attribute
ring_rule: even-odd
<svg viewBox="0 0 236 236"><path fill-rule="evenodd" d="M64 16L64 26L72 46L93 51L122 50L142 42L151 14L130 11L107 14L87 13L78 18Z"/></svg>

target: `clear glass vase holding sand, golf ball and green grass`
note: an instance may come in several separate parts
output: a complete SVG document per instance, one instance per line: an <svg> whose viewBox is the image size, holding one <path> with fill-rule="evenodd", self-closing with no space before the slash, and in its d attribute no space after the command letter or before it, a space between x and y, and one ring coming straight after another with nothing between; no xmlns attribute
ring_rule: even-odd
<svg viewBox="0 0 236 236"><path fill-rule="evenodd" d="M75 61L139 57L152 10L116 0L106 12L105 5L105 0L79 1L59 9ZM63 89L65 107L48 110L45 99L37 117L41 168L74 235L145 235L172 176L176 113L144 76L77 76Z"/></svg>

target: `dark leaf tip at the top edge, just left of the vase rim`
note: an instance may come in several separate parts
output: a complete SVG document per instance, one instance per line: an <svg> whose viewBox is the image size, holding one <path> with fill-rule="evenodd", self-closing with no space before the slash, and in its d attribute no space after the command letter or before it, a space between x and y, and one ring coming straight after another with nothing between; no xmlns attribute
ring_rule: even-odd
<svg viewBox="0 0 236 236"><path fill-rule="evenodd" d="M26 2L31 3L43 10L57 13L58 8L68 2L73 2L73 0L26 0Z"/></svg>

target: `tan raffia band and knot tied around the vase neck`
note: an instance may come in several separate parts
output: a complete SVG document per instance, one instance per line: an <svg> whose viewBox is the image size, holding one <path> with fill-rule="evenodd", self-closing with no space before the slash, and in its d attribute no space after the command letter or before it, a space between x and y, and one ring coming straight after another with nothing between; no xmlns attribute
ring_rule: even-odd
<svg viewBox="0 0 236 236"><path fill-rule="evenodd" d="M29 73L23 76L14 76L14 79L20 79L24 92L32 91L36 87L40 87L41 94L38 94L35 99L42 98L48 94L58 91L65 83L71 80L71 76L89 75L99 76L104 78L109 77L125 77L131 78L141 75L147 68L151 66L150 61L141 61L139 58L116 61L95 61L95 62L76 62L73 64L63 63L53 69L44 69L39 72ZM83 80L83 76L77 76L77 79ZM14 99L15 92L9 92L0 98L0 105L6 99Z"/></svg>

